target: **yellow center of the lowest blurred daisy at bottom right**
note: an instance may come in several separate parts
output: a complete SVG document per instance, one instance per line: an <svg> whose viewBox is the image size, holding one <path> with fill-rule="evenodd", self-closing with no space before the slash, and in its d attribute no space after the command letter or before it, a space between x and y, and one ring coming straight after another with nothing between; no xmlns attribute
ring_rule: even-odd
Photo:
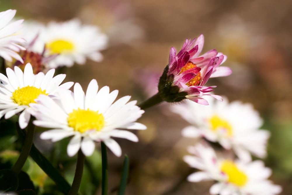
<svg viewBox="0 0 292 195"><path fill-rule="evenodd" d="M246 174L239 170L232 161L223 161L220 170L228 176L228 182L235 184L239 187L244 186L248 180Z"/></svg>

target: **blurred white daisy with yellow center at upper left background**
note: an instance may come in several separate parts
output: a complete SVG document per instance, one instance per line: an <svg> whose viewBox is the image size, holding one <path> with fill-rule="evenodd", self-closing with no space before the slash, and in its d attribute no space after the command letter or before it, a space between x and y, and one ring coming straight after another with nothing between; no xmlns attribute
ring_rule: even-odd
<svg viewBox="0 0 292 195"><path fill-rule="evenodd" d="M46 45L45 56L59 54L48 63L48 68L84 64L86 58L101 61L103 50L107 46L107 36L97 26L82 25L78 19L67 22L50 22L39 29L33 51L41 51ZM39 48L36 48L39 47Z"/></svg>

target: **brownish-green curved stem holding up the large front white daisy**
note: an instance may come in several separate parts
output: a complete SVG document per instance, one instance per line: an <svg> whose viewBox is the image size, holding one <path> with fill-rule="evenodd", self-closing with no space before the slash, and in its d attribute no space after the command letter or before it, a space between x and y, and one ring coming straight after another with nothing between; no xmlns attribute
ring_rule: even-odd
<svg viewBox="0 0 292 195"><path fill-rule="evenodd" d="M76 195L78 193L78 190L81 184L82 174L83 174L84 161L85 161L85 155L80 149L78 151L78 156L77 156L77 164L76 164L74 180L73 180L73 183L68 195Z"/></svg>

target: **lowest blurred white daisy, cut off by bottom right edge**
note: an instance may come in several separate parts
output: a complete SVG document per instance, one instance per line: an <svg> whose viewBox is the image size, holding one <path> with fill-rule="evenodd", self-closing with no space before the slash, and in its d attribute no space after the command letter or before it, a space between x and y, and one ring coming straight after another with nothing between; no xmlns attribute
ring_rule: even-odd
<svg viewBox="0 0 292 195"><path fill-rule="evenodd" d="M272 171L264 166L263 161L244 163L219 158L211 147L202 144L190 146L188 151L192 155L184 156L184 161L201 171L192 173L187 180L218 181L210 188L210 194L275 195L281 192L280 186L267 180Z"/></svg>

